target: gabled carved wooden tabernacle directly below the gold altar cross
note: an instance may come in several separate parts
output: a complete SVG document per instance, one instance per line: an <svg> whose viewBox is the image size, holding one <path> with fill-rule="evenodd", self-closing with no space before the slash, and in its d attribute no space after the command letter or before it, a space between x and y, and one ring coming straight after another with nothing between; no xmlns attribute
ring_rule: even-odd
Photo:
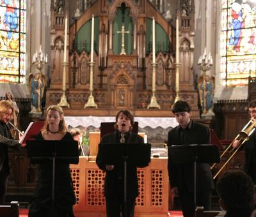
<svg viewBox="0 0 256 217"><path fill-rule="evenodd" d="M123 69L116 73L111 82L111 104L115 108L132 107L133 85L134 80Z"/></svg>

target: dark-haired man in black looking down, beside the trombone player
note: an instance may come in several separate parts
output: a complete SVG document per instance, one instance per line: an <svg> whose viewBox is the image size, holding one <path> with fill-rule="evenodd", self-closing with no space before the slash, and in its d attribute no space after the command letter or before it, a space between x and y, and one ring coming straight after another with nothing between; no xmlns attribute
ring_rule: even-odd
<svg viewBox="0 0 256 217"><path fill-rule="evenodd" d="M191 108L186 101L177 101L172 112L179 123L168 133L168 146L186 144L209 144L210 131L203 124L190 119ZM168 153L168 173L172 193L180 198L184 217L195 217L193 202L193 164L176 164ZM211 169L208 163L198 163L196 167L196 206L211 209L211 191L214 188Z"/></svg>

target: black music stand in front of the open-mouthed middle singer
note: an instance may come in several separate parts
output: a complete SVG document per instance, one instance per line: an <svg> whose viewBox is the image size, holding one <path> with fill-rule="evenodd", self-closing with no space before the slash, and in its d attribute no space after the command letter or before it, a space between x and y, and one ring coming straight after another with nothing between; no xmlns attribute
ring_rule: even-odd
<svg viewBox="0 0 256 217"><path fill-rule="evenodd" d="M105 165L124 162L124 217L127 214L127 162L135 167L147 167L150 163L151 144L148 143L102 143L98 155Z"/></svg>

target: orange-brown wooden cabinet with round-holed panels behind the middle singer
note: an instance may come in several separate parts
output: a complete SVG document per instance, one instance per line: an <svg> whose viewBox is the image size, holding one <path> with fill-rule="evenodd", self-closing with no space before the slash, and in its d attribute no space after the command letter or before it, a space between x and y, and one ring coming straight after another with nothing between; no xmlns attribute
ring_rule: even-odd
<svg viewBox="0 0 256 217"><path fill-rule="evenodd" d="M105 173L95 161L79 157L78 165L70 165L77 202L77 217L106 216L104 197ZM139 197L136 198L135 216L168 216L167 158L151 158L148 167L138 168Z"/></svg>

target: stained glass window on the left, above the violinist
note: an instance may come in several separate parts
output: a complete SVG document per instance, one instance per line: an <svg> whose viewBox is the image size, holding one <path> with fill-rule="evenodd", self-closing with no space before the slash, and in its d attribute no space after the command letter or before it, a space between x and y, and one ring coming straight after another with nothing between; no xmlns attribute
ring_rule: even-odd
<svg viewBox="0 0 256 217"><path fill-rule="evenodd" d="M26 0L0 0L0 82L24 83Z"/></svg>

